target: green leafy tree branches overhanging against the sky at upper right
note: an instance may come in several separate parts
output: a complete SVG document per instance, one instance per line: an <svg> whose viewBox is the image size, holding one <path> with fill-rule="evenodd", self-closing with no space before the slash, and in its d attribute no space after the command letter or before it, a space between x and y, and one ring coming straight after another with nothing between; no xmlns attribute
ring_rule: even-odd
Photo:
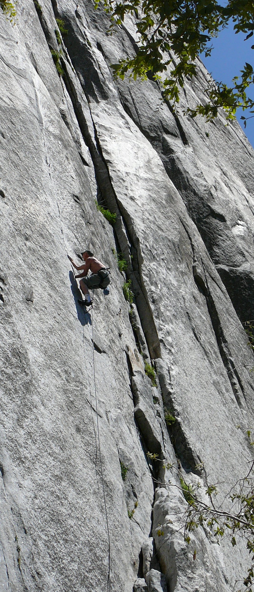
<svg viewBox="0 0 254 592"><path fill-rule="evenodd" d="M172 101L174 108L185 79L196 74L196 58L202 53L210 56L213 38L230 20L236 34L246 34L245 41L254 32L252 0L227 0L221 4L217 0L95 0L95 8L100 2L110 15L111 33L131 14L139 37L136 56L112 64L114 75L124 79L128 74L134 80L152 76L160 82L163 98ZM207 104L188 108L186 114L191 117L201 114L211 120L217 116L218 108L223 107L231 120L235 119L238 107L254 113L254 99L246 95L246 89L254 82L253 68L246 62L240 72L240 77L234 76L232 88L211 80L205 89ZM249 117L242 116L245 125Z"/></svg>

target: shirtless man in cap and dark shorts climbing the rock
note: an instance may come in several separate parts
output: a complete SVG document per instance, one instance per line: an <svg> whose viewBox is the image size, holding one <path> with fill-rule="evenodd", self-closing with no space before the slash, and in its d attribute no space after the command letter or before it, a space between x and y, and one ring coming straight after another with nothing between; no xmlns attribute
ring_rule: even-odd
<svg viewBox="0 0 254 592"><path fill-rule="evenodd" d="M89 306L89 304L92 304L92 300L88 288L101 288L102 290L107 288L108 284L110 284L110 272L108 271L108 268L105 267L103 263L101 263L101 261L95 259L94 253L88 249L83 251L81 256L85 261L85 265L76 265L69 255L67 255L67 258L70 260L70 263L72 263L73 267L77 269L77 271L81 271L82 269L82 273L76 275L75 279L82 278L79 282L79 287L85 296L85 300L78 300L78 303ZM91 271L91 275L88 276L87 274L89 270Z"/></svg>

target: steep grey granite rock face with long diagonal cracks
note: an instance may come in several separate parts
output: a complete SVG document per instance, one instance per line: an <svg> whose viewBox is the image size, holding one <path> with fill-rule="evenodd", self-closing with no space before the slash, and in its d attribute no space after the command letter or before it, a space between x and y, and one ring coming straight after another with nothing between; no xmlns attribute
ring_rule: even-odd
<svg viewBox="0 0 254 592"><path fill-rule="evenodd" d="M245 545L201 527L186 545L160 461L221 499L249 466L254 154L222 112L183 117L201 62L178 115L155 83L113 81L136 40L107 18L72 0L0 14L0 590L229 592ZM87 313L67 259L85 248L111 268Z"/></svg>

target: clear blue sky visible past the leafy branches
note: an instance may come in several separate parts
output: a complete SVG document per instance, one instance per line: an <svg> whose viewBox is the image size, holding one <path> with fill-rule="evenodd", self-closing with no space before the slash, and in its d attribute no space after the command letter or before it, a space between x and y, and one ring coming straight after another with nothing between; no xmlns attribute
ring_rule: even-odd
<svg viewBox="0 0 254 592"><path fill-rule="evenodd" d="M233 76L238 76L243 69L245 62L249 62L254 67L254 50L251 46L254 44L254 36L244 41L247 33L234 33L233 23L228 28L220 32L219 36L213 39L213 51L210 57L204 57L201 54L201 60L218 82L222 81L227 86L232 86ZM249 86L250 97L254 95L253 85ZM240 120L242 111L238 111L237 120L243 128L243 121ZM247 111L244 115L247 117ZM244 128L243 128L244 129ZM254 147L254 118L247 121L245 134Z"/></svg>

